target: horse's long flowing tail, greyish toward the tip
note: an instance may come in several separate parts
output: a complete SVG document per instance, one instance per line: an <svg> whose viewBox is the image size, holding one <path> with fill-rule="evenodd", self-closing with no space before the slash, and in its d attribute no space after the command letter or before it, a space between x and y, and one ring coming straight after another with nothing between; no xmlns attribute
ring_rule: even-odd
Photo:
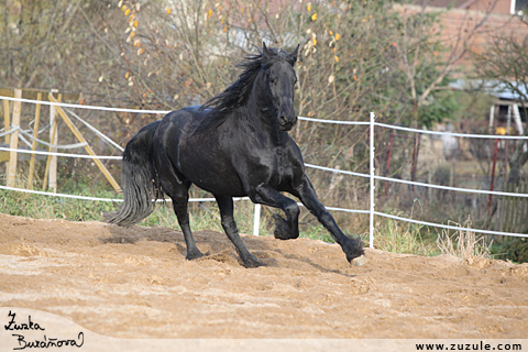
<svg viewBox="0 0 528 352"><path fill-rule="evenodd" d="M118 211L105 216L108 222L124 227L138 223L148 217L155 201L163 198L152 147L158 124L160 121L145 125L127 144L121 173L124 201Z"/></svg>

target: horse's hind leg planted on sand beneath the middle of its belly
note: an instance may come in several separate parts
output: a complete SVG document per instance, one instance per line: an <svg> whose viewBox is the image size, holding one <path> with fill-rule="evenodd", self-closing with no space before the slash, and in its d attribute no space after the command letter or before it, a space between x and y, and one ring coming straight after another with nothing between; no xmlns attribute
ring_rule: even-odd
<svg viewBox="0 0 528 352"><path fill-rule="evenodd" d="M226 196L217 196L218 208L220 209L220 217L222 219L222 227L226 231L228 238L233 242L234 248L237 249L237 253L239 253L242 262L244 262L245 267L258 267L265 266L264 263L258 261L256 256L254 256L248 248L245 246L244 242L239 235L239 230L237 229L237 223L234 222L233 218L233 198L226 197Z"/></svg>

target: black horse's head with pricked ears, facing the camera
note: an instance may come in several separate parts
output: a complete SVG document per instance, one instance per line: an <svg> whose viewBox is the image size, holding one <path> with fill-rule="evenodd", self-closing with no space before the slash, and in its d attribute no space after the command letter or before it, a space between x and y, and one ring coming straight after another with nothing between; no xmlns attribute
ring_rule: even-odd
<svg viewBox="0 0 528 352"><path fill-rule="evenodd" d="M268 50L263 43L262 58L266 70L264 82L273 107L277 112L277 120L283 131L289 131L297 123L297 113L294 108L294 87L297 82L294 65L297 62L299 46L292 53L284 50Z"/></svg>

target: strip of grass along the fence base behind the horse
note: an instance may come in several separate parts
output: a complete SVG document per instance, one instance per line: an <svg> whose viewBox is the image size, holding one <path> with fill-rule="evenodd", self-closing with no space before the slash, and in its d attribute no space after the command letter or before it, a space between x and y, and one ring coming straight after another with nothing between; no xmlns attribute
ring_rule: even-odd
<svg viewBox="0 0 528 352"><path fill-rule="evenodd" d="M88 189L84 196L99 198L117 198L114 191L97 190L91 194ZM116 211L120 204L91 201L69 198L50 197L0 190L0 212L34 219L64 219L69 221L103 221L103 213ZM389 211L391 212L391 211ZM220 223L220 213L216 202L189 204L189 218L193 231L219 231L223 232ZM248 200L237 201L234 218L241 233L253 232L254 206ZM144 227L168 227L179 230L179 224L173 211L170 202L157 204L153 213L141 221ZM264 211L261 216L260 234L273 235L274 221L271 212ZM319 223L310 221L301 226L300 237L321 240L333 243L330 233ZM448 244L437 242L437 237L429 233L427 227L406 223L386 218L377 218L374 233L374 248L393 252L416 255L432 256L447 253L448 248L457 248L462 238L452 234L444 237L450 239ZM369 243L369 234L362 234L365 244ZM468 237L464 237L468 239ZM444 241L446 242L446 241ZM481 241L473 241L475 245L482 245ZM472 243L473 243L472 242ZM464 242L464 251L471 251L470 244ZM443 245L443 248L442 248ZM479 255L481 248L476 249ZM473 253L473 252L472 252ZM486 255L490 253L486 250ZM455 252L450 254L458 255Z"/></svg>

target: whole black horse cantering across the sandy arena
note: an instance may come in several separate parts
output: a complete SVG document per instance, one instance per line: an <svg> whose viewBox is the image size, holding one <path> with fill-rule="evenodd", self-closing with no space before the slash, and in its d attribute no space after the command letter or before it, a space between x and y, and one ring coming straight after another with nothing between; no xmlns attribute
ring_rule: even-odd
<svg viewBox="0 0 528 352"><path fill-rule="evenodd" d="M121 208L110 223L131 226L153 210L153 199L168 195L185 235L187 260L204 254L196 246L187 212L191 184L217 199L222 227L246 267L264 265L248 251L233 219L232 197L249 196L255 204L280 208L274 235L299 237L297 198L328 229L350 262L363 254L359 238L343 234L317 199L299 147L287 133L297 122L294 65L299 47L286 53L267 48L246 56L239 79L201 107L172 111L143 129L123 153Z"/></svg>

